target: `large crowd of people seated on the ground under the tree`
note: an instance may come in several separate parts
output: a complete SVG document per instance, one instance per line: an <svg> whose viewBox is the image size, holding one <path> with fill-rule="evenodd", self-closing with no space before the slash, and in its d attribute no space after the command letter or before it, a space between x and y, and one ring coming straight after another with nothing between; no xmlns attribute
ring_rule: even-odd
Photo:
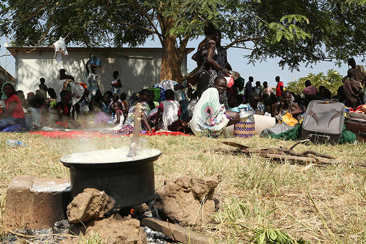
<svg viewBox="0 0 366 244"><path fill-rule="evenodd" d="M241 105L254 114L279 120L289 114L297 121L312 100L339 101L356 109L364 104L362 85L356 75L355 68L348 70L344 85L334 96L324 86L312 86L310 80L305 82L303 94L291 93L284 89L280 77L276 77L275 92L267 82L262 85L257 81L254 87L246 85L242 93L235 85L227 87L225 77L218 76L214 87L204 90L200 97L193 87L185 88L175 81L163 80L154 88L142 89L127 100L126 93L119 94L123 87L117 79L118 72L113 73L111 90L102 94L98 86L90 90L84 83L77 83L72 76L66 75L65 70L60 70L61 83L56 89L59 93L48 88L43 78L40 79L40 89L28 93L26 98L21 90L16 91L11 83L5 83L0 102L0 130L17 124L25 126L25 115L29 114L32 115L32 129L100 129L105 133L130 134L134 127L135 107L140 103L141 133L163 129L217 136L227 126L239 121L237 108ZM118 86L113 85L118 83L116 81ZM248 82L253 82L253 77ZM220 96L224 93L227 106L220 103Z"/></svg>

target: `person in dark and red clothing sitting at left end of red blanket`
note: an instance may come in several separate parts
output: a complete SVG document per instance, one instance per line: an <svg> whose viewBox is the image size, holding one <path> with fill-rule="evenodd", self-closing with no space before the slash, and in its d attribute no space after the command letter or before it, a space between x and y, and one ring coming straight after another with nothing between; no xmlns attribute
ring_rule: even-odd
<svg viewBox="0 0 366 244"><path fill-rule="evenodd" d="M54 116L54 123L52 125L55 128L68 128L78 129L80 124L71 118L71 93L68 90L62 90L60 92L61 102L58 102L55 106L57 114Z"/></svg>

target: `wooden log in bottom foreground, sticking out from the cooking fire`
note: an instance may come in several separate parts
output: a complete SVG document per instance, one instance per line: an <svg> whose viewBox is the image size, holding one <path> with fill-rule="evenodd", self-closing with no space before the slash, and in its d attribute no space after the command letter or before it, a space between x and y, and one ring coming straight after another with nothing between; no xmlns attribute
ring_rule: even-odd
<svg viewBox="0 0 366 244"><path fill-rule="evenodd" d="M196 233L177 224L171 224L154 218L142 219L141 226L147 226L152 230L159 231L163 233L166 237L171 238L177 242L191 244L219 243L217 241L215 242L215 238L213 237Z"/></svg>

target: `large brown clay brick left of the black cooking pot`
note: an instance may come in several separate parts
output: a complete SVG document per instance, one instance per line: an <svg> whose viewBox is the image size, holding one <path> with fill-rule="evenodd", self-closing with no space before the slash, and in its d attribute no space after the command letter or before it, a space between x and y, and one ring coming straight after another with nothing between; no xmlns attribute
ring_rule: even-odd
<svg viewBox="0 0 366 244"><path fill-rule="evenodd" d="M70 202L69 179L16 176L7 190L4 226L12 230L52 228L66 219Z"/></svg>

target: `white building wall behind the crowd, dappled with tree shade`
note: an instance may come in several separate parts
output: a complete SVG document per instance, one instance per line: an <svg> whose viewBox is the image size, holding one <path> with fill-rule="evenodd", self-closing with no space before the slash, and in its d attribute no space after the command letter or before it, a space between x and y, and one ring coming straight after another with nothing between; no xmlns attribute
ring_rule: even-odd
<svg viewBox="0 0 366 244"><path fill-rule="evenodd" d="M54 51L35 50L31 53L16 54L16 89L24 94L36 92L39 79L45 78L48 87L56 87L59 80L58 70L64 68L67 74L83 82L86 73L85 64L89 54L79 50L68 50L69 56L63 57L59 64L53 59ZM97 69L98 84L102 94L110 89L113 71L119 72L122 92L127 96L139 92L142 88L152 87L159 83L162 50L126 50L126 51L93 51L102 58L101 68ZM187 54L181 67L182 74L187 73Z"/></svg>

